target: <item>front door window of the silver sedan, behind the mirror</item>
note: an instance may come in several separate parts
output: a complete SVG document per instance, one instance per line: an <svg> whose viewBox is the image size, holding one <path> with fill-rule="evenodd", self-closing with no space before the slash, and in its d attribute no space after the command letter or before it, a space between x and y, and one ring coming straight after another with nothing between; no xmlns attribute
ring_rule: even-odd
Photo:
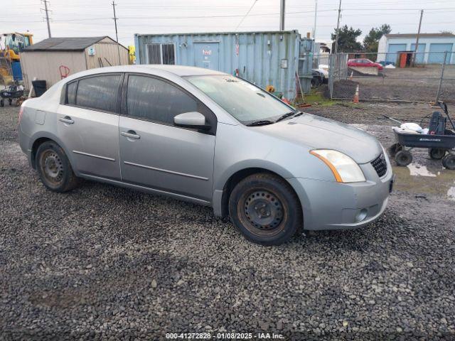
<svg viewBox="0 0 455 341"><path fill-rule="evenodd" d="M164 80L141 75L129 75L127 114L164 124L183 112L200 112L198 100Z"/></svg>

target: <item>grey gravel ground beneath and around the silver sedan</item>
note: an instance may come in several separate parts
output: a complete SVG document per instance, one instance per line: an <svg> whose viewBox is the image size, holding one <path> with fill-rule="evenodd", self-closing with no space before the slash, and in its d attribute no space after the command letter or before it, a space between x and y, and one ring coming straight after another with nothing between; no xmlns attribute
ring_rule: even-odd
<svg viewBox="0 0 455 341"><path fill-rule="evenodd" d="M319 110L368 121L332 108ZM91 182L45 190L18 147L17 114L0 108L0 340L203 331L455 339L455 210L446 195L400 190L412 180L403 174L378 222L261 247L207 207ZM383 124L364 128L391 144ZM418 161L429 167L424 153Z"/></svg>

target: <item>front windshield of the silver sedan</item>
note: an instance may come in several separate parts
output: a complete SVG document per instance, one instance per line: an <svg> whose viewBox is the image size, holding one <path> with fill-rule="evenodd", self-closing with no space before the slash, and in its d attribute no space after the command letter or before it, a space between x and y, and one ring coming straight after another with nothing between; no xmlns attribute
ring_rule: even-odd
<svg viewBox="0 0 455 341"><path fill-rule="evenodd" d="M188 76L198 87L242 124L274 123L284 114L296 112L272 94L231 75Z"/></svg>

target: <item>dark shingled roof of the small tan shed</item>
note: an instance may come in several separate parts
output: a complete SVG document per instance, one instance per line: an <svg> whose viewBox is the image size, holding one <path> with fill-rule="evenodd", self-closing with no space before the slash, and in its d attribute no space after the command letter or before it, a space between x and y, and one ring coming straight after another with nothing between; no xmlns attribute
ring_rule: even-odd
<svg viewBox="0 0 455 341"><path fill-rule="evenodd" d="M48 38L40 42L27 46L24 51L80 51L98 43L100 40L109 38L114 43L115 40L109 36L102 37L80 37L80 38ZM120 44L119 44L120 45ZM123 45L120 45L125 48Z"/></svg>

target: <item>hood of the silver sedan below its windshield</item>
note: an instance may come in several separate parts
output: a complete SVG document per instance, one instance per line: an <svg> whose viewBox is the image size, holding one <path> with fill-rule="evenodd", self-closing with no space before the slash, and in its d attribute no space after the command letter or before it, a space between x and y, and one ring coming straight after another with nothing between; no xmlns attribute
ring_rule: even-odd
<svg viewBox="0 0 455 341"><path fill-rule="evenodd" d="M356 163L369 163L382 153L382 147L374 136L354 126L312 114L257 128L265 134L311 149L341 151Z"/></svg>

